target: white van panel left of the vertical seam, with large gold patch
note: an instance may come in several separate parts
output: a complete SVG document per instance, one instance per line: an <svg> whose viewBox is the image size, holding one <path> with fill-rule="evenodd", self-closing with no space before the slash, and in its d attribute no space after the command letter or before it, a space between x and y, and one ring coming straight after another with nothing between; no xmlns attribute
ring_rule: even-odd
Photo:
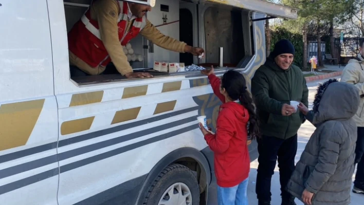
<svg viewBox="0 0 364 205"><path fill-rule="evenodd" d="M47 2L1 4L0 201L57 204L58 114Z"/></svg>

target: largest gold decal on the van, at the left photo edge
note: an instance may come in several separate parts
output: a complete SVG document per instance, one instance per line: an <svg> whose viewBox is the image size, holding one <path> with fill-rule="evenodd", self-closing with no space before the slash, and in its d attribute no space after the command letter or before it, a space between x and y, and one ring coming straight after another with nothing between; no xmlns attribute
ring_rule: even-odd
<svg viewBox="0 0 364 205"><path fill-rule="evenodd" d="M0 151L27 143L45 99L0 106Z"/></svg>

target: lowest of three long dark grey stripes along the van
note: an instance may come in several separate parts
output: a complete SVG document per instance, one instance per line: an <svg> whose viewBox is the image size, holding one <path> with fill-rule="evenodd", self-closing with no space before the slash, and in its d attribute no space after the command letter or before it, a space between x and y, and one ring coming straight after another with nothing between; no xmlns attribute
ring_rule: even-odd
<svg viewBox="0 0 364 205"><path fill-rule="evenodd" d="M65 172L68 172L70 170L74 170L74 169L76 169L78 167L81 167L81 166L84 166L84 165L87 165L87 164L90 164L90 163L94 163L94 162L97 162L97 161L100 161L100 160L103 160L103 159L106 159L106 158L109 158L109 157L113 157L113 156L122 154L124 152L131 151L131 150L133 150L135 148L138 148L138 147L150 144L150 143L158 142L160 140L168 139L170 137L192 131L193 129L196 129L196 128L198 128L197 125L191 125L191 126L188 126L188 127L182 128L182 129L178 129L176 131L172 131L170 133L166 133L166 134L163 134L163 135L153 137L151 139L147 139L147 140L140 141L140 142L137 142L137 143L134 143L134 144L130 144L130 145L127 145L127 146L124 146L124 147L120 147L120 148L117 148L116 150L108 151L106 153L102 153L102 154L99 154L99 155L96 155L96 156L93 156L93 157L89 157L89 158L86 158L86 159L83 159L83 160L80 160L80 161L76 161L76 162L73 162L73 163L70 163L70 164L66 164L66 165L63 165L63 166L60 167L60 171L61 171L61 173L65 173ZM43 172L43 173L40 173L40 174L37 174L37 175L34 175L34 176L31 176L31 177L28 177L28 178L25 178L25 179L21 179L21 180L18 180L18 181L14 181L14 182L2 185L0 187L0 195L11 192L11 191L14 191L16 189L20 189L20 188L25 187L25 186L27 186L29 184L32 184L32 183L35 183L35 182L50 178L52 176L56 176L57 174L58 174L58 168L52 169L52 170L49 170L49 171L46 171L46 172Z"/></svg>

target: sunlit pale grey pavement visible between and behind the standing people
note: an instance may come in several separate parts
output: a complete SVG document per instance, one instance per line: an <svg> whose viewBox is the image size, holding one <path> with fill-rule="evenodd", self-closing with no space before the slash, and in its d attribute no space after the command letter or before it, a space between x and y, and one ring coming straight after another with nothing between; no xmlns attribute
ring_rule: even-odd
<svg viewBox="0 0 364 205"><path fill-rule="evenodd" d="M319 83L323 83L327 79L315 81L311 83L307 83L308 89L310 91L310 94L308 96L308 100L310 102L310 108L312 108L312 103L315 98L316 94L316 87ZM301 128L298 131L298 150L296 155L296 163L301 157L301 154L306 146L306 143L310 139L312 133L315 131L315 127L308 121L306 121ZM278 164L277 164L278 165ZM271 193L272 193L272 205L279 205L281 204L281 197L280 197L280 182L279 182L279 170L278 166L276 165L275 174L272 176L271 181ZM257 195L255 193L256 190L256 178L257 178L257 168L258 168L258 160L255 160L251 162L250 164L250 176L249 176L249 185L248 185L248 198L249 198L249 204L258 204ZM354 179L355 176L353 176ZM364 195L359 194L351 194L351 205L360 205L363 204L364 201ZM361 201L361 202L360 202ZM296 203L298 205L303 205L301 201L296 199Z"/></svg>

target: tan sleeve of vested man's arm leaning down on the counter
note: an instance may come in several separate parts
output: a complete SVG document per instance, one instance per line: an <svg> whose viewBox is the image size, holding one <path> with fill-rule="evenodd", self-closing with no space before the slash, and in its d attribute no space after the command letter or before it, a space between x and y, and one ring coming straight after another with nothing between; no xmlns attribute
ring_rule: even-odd
<svg viewBox="0 0 364 205"><path fill-rule="evenodd" d="M118 15L119 7L117 1L102 0L93 3L101 40L110 55L116 69L122 74L133 72L133 68L128 62L128 58L119 42L118 34Z"/></svg>

